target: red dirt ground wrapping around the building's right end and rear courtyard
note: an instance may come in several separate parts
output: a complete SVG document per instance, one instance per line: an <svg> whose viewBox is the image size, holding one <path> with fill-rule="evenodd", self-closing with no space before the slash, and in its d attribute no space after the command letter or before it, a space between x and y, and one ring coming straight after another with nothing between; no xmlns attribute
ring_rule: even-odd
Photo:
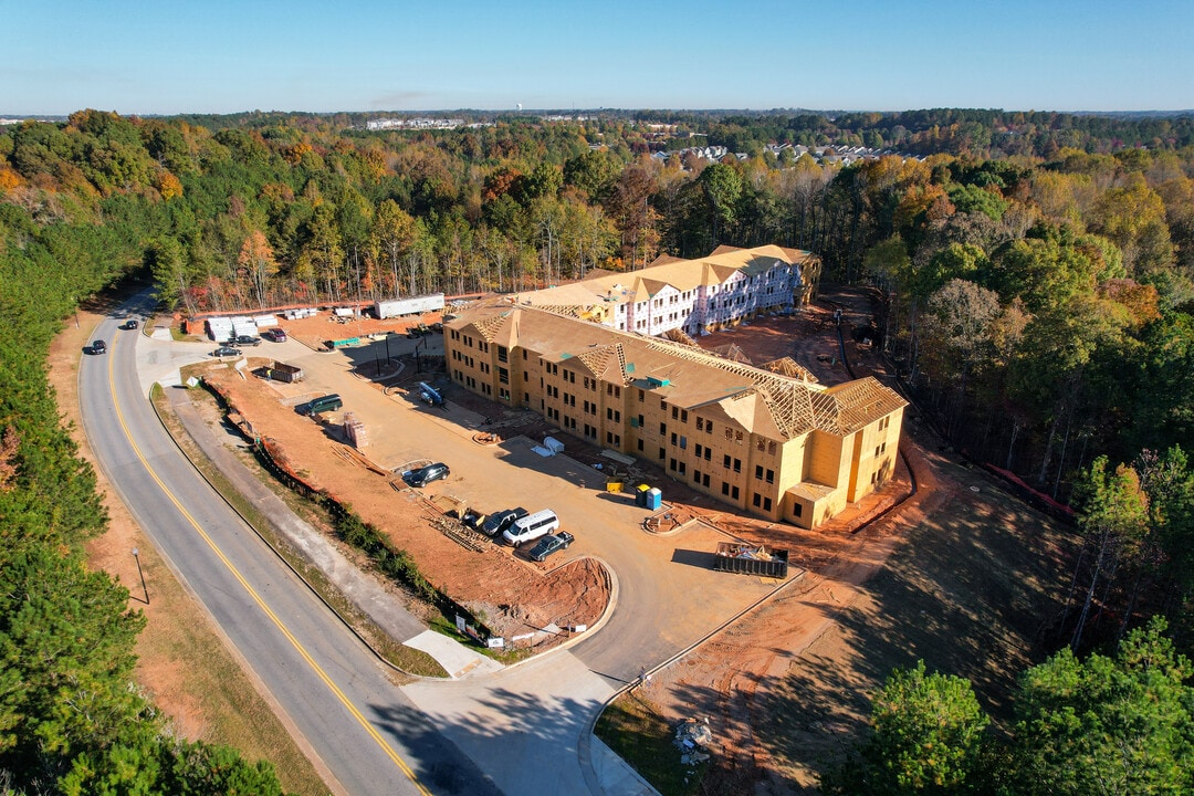
<svg viewBox="0 0 1194 796"><path fill-rule="evenodd" d="M851 340L870 325L857 291L700 343L734 343L759 365L792 356L833 384L850 377L832 334L838 308L854 375L886 377L870 346ZM819 529L823 544L783 529L805 578L635 686L672 727L709 721L715 743L701 792L816 792L817 772L864 728L869 695L917 658L968 677L998 714L998 695L1030 662L1034 634L1055 610L1067 536L937 448L909 407L900 450L916 494L874 522L896 496L836 518Z"/></svg>

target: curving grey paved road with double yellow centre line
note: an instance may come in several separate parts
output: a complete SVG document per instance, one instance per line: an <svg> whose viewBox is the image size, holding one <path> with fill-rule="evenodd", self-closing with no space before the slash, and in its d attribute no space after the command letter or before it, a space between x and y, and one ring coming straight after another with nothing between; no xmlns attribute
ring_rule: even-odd
<svg viewBox="0 0 1194 796"><path fill-rule="evenodd" d="M100 323L84 358L84 427L154 545L349 794L497 794L215 493L156 420L137 382L134 332Z"/></svg>

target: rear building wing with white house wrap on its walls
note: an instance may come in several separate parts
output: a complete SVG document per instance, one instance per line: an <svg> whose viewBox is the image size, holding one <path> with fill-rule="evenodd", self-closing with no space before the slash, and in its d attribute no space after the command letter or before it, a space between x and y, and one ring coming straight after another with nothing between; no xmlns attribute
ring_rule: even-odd
<svg viewBox="0 0 1194 796"><path fill-rule="evenodd" d="M621 332L681 329L695 337L759 313L801 307L816 297L819 280L820 259L811 252L722 246L696 260L660 258L639 271L596 271L515 301Z"/></svg>

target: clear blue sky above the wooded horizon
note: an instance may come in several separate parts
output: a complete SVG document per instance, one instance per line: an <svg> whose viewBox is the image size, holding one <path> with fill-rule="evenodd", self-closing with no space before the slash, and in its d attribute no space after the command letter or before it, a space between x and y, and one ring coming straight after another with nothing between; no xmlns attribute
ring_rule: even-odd
<svg viewBox="0 0 1194 796"><path fill-rule="evenodd" d="M1194 0L0 0L0 116L1194 109Z"/></svg>

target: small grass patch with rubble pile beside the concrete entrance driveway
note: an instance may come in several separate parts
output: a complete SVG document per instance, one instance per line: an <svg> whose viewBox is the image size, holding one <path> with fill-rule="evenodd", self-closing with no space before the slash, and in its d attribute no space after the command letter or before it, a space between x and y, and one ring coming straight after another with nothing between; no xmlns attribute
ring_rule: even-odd
<svg viewBox="0 0 1194 796"><path fill-rule="evenodd" d="M687 766L672 742L673 733L650 702L627 691L605 709L593 733L629 763L663 796L701 792L708 763Z"/></svg>

